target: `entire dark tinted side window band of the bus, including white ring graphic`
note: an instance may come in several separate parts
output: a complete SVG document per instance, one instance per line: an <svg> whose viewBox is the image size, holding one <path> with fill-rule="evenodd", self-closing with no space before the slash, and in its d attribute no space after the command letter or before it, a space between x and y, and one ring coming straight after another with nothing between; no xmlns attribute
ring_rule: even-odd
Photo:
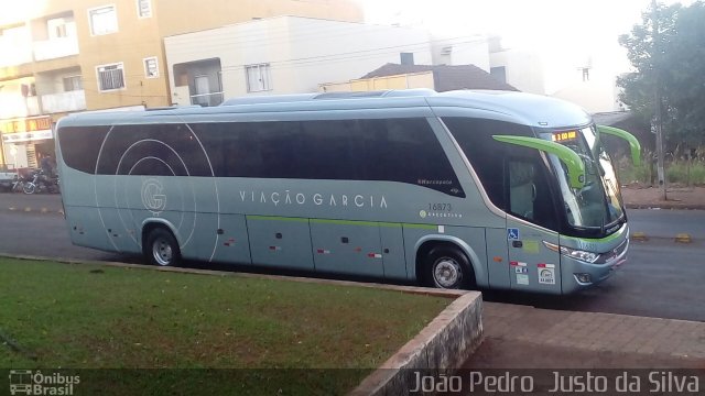
<svg viewBox="0 0 705 396"><path fill-rule="evenodd" d="M104 175L388 180L465 197L422 118L116 125L108 133L109 129L62 129L68 166L94 173L97 164Z"/></svg>

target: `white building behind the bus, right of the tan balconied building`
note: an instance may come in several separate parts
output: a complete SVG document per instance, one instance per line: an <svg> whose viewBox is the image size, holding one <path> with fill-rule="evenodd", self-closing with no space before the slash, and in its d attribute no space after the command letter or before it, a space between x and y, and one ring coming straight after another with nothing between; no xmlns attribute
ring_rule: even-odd
<svg viewBox="0 0 705 396"><path fill-rule="evenodd" d="M164 38L172 101L315 92L387 63L431 64L423 30L278 16Z"/></svg>

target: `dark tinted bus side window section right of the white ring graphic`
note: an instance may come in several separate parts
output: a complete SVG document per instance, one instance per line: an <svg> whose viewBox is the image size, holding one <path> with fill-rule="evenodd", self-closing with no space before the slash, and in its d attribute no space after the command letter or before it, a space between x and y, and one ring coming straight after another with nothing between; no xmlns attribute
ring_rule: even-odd
<svg viewBox="0 0 705 396"><path fill-rule="evenodd" d="M191 125L216 175L389 180L465 197L425 119L208 123Z"/></svg>

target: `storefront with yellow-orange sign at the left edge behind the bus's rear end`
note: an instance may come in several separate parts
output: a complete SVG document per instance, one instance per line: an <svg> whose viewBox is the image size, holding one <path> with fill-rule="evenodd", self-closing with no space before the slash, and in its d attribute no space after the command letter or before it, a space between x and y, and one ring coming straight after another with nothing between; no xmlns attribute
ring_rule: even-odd
<svg viewBox="0 0 705 396"><path fill-rule="evenodd" d="M8 168L37 168L40 155L55 157L53 127L48 116L0 120L0 165Z"/></svg>

